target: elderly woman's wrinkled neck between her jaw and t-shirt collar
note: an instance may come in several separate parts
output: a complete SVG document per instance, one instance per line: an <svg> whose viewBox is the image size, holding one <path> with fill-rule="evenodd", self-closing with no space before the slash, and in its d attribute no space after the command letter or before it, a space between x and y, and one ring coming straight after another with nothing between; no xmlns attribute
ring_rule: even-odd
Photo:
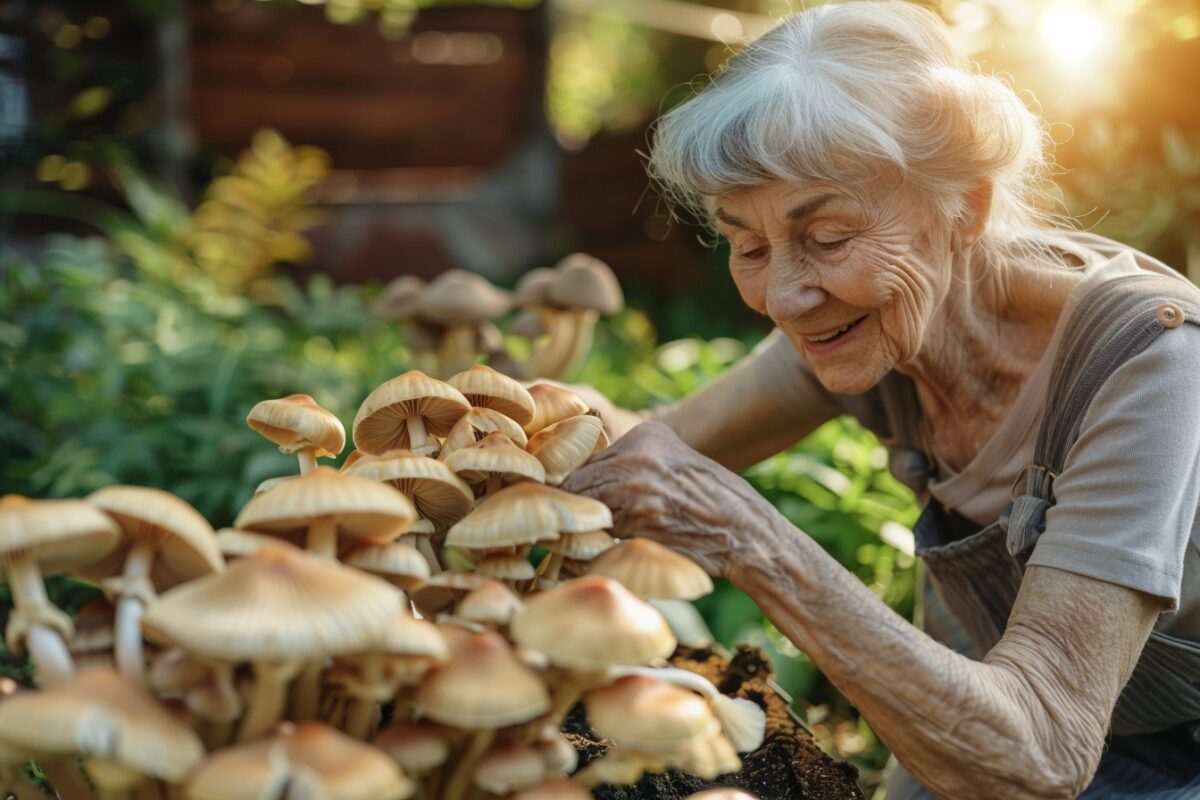
<svg viewBox="0 0 1200 800"><path fill-rule="evenodd" d="M934 444L954 469L974 458L1012 409L1076 279L1016 260L991 263L979 252L956 265L920 351L898 366L916 383Z"/></svg>

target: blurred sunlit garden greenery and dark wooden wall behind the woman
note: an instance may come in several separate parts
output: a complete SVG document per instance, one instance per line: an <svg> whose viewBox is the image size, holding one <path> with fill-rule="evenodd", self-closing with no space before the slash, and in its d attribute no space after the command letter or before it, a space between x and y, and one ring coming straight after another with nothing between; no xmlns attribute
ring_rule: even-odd
<svg viewBox="0 0 1200 800"><path fill-rule="evenodd" d="M1200 278L1194 0L925 5L1044 115L1081 227ZM406 368L371 313L403 273L511 287L592 253L630 308L570 378L629 408L694 391L766 329L648 186L648 127L793 6L0 2L0 489L160 486L228 524L292 470L254 402L307 392L348 422ZM746 477L919 619L917 509L868 433L832 422ZM888 754L854 710L732 588L701 610L775 656L870 796Z"/></svg>

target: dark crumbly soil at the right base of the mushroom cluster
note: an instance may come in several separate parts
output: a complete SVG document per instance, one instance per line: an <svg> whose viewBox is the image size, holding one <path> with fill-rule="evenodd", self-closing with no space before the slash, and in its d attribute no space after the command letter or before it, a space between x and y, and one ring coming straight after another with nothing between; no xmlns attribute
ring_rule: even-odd
<svg viewBox="0 0 1200 800"><path fill-rule="evenodd" d="M752 753L742 754L742 771L702 781L677 770L646 774L634 786L601 786L599 800L684 800L715 787L739 787L762 800L863 800L858 770L826 756L812 735L787 710L787 700L772 686L770 663L754 648L739 648L732 658L710 649L680 646L676 667L704 675L725 694L745 697L767 711L767 736ZM566 718L568 738L580 752L580 766L599 758L607 744L588 727L582 706Z"/></svg>

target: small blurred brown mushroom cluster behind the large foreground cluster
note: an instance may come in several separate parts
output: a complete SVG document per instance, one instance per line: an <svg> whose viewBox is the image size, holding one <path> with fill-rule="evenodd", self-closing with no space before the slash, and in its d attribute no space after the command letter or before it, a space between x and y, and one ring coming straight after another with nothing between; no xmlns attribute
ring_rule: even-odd
<svg viewBox="0 0 1200 800"><path fill-rule="evenodd" d="M624 305L608 265L572 253L526 272L511 294L463 270L428 284L403 275L388 284L374 313L403 325L413 366L434 378L449 379L482 356L505 374L533 380L568 374L592 345L600 315ZM521 353L505 349L494 324L514 308L508 331L524 342Z"/></svg>

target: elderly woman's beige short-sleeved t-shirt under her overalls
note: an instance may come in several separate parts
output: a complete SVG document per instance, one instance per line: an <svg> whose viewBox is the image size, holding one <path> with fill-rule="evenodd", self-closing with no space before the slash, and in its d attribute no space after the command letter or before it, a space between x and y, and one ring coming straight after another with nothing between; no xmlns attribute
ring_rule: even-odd
<svg viewBox="0 0 1200 800"><path fill-rule="evenodd" d="M1177 277L1142 253L1091 234L1064 234L1084 260L1057 329L992 438L960 473L937 459L928 489L947 509L995 522L1021 468L1032 462L1062 331L1079 300L1098 283L1140 271ZM888 441L888 411L876 390L838 396L820 385L782 336L758 349L780 399L814 419L850 413ZM936 452L934 453L936 457ZM1164 597L1175 609L1158 630L1200 642L1200 326L1165 331L1114 372L1088 408L1080 435L1055 480L1030 564Z"/></svg>

